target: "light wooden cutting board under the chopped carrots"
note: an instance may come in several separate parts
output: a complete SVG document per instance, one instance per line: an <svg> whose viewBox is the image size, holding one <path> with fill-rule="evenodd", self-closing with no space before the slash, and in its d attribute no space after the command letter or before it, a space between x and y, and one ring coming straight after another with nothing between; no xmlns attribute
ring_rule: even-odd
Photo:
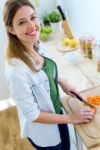
<svg viewBox="0 0 100 150"><path fill-rule="evenodd" d="M83 92L83 95L84 97L100 95L100 86ZM62 105L69 114L88 107L84 106L79 100L71 97L62 99ZM96 106L96 108L97 112L91 122L75 125L86 147L91 150L100 149L100 106Z"/></svg>

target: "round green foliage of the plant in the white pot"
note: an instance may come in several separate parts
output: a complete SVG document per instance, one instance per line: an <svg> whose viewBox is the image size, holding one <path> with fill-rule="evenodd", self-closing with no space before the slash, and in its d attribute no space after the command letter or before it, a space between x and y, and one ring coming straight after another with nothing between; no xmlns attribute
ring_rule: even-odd
<svg viewBox="0 0 100 150"><path fill-rule="evenodd" d="M61 21L61 16L58 11L52 11L49 15L49 20L52 23L57 23Z"/></svg>

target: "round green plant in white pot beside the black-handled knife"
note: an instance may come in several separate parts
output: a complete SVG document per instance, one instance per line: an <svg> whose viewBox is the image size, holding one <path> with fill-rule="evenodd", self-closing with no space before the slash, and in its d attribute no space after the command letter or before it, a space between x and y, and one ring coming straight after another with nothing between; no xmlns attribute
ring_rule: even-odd
<svg viewBox="0 0 100 150"><path fill-rule="evenodd" d="M53 32L62 31L61 16L58 11L54 10L49 13L50 25Z"/></svg>

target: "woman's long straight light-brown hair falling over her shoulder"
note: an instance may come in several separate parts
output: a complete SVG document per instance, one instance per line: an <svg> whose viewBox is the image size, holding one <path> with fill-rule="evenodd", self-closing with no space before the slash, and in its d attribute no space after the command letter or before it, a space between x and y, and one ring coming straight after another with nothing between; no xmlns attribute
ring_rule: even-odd
<svg viewBox="0 0 100 150"><path fill-rule="evenodd" d="M16 35L11 34L7 28L12 26L12 20L18 11L19 8L22 6L30 6L34 9L34 6L30 3L29 0L7 0L4 6L3 11L3 21L6 26L6 31L8 35L8 45L6 48L6 59L8 63L10 63L12 58L19 58L21 59L32 71L35 71L31 60L25 54L25 52L29 55L30 52L24 47L24 45L19 41ZM35 11L35 9L34 9Z"/></svg>

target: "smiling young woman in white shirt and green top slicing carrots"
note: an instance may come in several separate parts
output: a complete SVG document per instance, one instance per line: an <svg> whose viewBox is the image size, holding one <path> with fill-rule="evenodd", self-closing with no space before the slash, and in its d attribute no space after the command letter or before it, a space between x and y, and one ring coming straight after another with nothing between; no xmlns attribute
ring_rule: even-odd
<svg viewBox="0 0 100 150"><path fill-rule="evenodd" d="M58 84L79 94L58 77L56 63L39 42L39 18L28 0L8 0L3 20L8 35L6 78L16 102L21 136L38 150L70 150L68 123L87 123L92 110L63 114Z"/></svg>

